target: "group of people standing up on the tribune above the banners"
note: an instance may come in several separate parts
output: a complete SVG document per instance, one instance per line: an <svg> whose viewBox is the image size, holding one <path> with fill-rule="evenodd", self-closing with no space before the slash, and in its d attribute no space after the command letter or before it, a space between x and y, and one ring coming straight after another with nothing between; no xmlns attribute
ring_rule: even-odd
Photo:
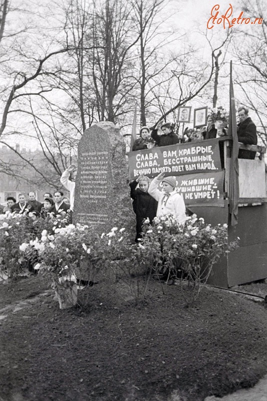
<svg viewBox="0 0 267 401"><path fill-rule="evenodd" d="M244 145L256 145L257 133L256 126L248 116L248 110L245 107L238 109L239 122L237 124L238 142ZM154 146L169 146L177 143L196 142L205 139L213 139L218 135L226 135L227 127L222 129L221 134L215 128L215 120L212 115L207 117L207 125L202 128L188 129L185 128L182 136L178 136L174 131L174 124L164 122L159 123L151 129L143 126L139 131L139 138L135 140L132 146L132 151L150 149ZM254 159L255 152L240 149L238 158Z"/></svg>

